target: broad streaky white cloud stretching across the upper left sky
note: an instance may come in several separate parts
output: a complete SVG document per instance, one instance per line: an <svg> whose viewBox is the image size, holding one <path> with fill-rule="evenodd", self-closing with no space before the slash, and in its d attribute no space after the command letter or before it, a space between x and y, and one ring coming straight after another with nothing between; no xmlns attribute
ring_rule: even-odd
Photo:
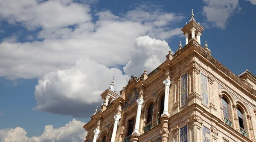
<svg viewBox="0 0 256 142"><path fill-rule="evenodd" d="M180 28L167 26L184 18L160 9L142 8L119 16L109 10L92 15L88 4L73 0L25 0L15 5L12 0L4 0L0 8L7 9L1 9L0 15L9 23L22 23L27 29L42 28L36 35L40 41L0 43L0 76L8 79L42 78L48 72L73 67L84 57L108 67L126 65L135 52L135 38L148 34L163 40L181 35ZM96 21L92 21L94 16L98 17Z"/></svg>

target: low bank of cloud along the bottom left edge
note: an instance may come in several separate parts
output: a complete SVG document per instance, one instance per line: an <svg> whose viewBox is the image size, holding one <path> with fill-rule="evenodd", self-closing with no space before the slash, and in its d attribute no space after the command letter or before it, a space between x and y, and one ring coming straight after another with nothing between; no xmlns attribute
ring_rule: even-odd
<svg viewBox="0 0 256 142"><path fill-rule="evenodd" d="M73 119L61 128L53 128L47 125L41 136L27 137L26 130L20 127L0 130L1 142L83 142L87 131L84 130L84 122Z"/></svg>

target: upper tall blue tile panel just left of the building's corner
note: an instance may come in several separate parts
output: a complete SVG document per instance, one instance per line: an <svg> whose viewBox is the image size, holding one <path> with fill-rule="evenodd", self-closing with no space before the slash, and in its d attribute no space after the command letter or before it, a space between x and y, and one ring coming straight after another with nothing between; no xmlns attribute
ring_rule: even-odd
<svg viewBox="0 0 256 142"><path fill-rule="evenodd" d="M187 103L188 99L188 74L181 76L181 106Z"/></svg>

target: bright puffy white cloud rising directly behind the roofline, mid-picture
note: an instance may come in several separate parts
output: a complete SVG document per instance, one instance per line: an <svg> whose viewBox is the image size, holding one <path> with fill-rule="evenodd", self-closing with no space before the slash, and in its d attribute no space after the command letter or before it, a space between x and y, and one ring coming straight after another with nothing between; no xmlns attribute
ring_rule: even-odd
<svg viewBox="0 0 256 142"><path fill-rule="evenodd" d="M166 55L170 50L166 41L161 41L149 36L136 38L134 41L136 52L131 55L128 64L123 67L128 75L140 76L144 69L151 72L166 60Z"/></svg>

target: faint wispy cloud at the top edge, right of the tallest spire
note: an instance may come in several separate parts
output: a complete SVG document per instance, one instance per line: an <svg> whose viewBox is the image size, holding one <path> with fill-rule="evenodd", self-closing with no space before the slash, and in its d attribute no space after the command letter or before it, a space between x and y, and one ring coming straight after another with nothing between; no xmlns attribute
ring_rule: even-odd
<svg viewBox="0 0 256 142"><path fill-rule="evenodd" d="M228 18L236 11L241 10L239 0L203 0L206 6L203 13L207 21L214 23L215 26L225 29Z"/></svg>

